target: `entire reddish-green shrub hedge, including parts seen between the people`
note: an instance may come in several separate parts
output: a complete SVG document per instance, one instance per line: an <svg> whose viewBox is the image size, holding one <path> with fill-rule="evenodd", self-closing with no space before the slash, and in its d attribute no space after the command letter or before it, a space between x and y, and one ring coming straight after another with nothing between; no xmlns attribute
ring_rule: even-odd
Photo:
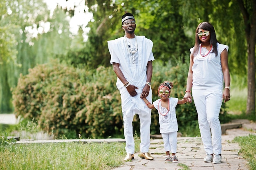
<svg viewBox="0 0 256 170"><path fill-rule="evenodd" d="M164 80L173 82L172 97L182 99L186 89L188 64L175 67L153 62L153 101L157 88ZM116 87L112 67L96 70L73 68L54 60L29 69L20 75L13 88L13 106L16 116L36 120L45 132L77 138L123 137L120 93ZM223 106L224 108L225 106ZM225 109L221 117L227 121ZM183 135L200 135L194 104L178 105L176 114L179 131ZM134 131L139 135L139 118L134 117ZM151 134L159 134L158 113L152 110Z"/></svg>

